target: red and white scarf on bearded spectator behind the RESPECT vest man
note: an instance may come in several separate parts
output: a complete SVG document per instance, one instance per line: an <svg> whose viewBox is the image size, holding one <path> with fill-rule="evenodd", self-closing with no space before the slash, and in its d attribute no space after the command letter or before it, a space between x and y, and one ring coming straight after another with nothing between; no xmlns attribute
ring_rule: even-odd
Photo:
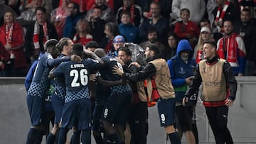
<svg viewBox="0 0 256 144"><path fill-rule="evenodd" d="M238 60L238 44L235 40L235 38L238 35L236 35L235 33L233 33L232 35L230 35L228 38L224 37L220 39L220 45L219 48L217 50L218 55L220 56L220 58L223 58L225 60L227 60L228 62L237 62ZM225 42L225 44L224 44ZM225 48L224 48L225 45Z"/></svg>

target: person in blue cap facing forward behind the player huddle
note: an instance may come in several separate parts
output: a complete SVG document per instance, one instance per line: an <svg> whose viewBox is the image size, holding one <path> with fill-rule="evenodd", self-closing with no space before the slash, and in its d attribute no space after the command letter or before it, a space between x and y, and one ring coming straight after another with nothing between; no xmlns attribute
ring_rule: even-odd
<svg viewBox="0 0 256 144"><path fill-rule="evenodd" d="M117 35L114 37L113 40L113 47L114 50L112 50L108 55L112 56L112 57L117 57L117 50L121 47L124 46L125 43L125 39L122 35Z"/></svg>

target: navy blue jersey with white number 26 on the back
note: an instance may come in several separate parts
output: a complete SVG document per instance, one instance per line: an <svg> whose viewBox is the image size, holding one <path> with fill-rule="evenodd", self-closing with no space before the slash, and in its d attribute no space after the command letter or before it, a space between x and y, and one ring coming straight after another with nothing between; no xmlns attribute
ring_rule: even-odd
<svg viewBox="0 0 256 144"><path fill-rule="evenodd" d="M65 103L83 98L90 98L89 76L90 72L100 67L97 60L85 59L82 62L63 62L53 72L55 76L64 75L66 85Z"/></svg>

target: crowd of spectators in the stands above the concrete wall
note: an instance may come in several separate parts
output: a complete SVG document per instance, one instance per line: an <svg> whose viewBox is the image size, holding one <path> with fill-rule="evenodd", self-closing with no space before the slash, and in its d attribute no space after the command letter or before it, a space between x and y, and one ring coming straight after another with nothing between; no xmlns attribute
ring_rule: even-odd
<svg viewBox="0 0 256 144"><path fill-rule="evenodd" d="M51 38L95 40L111 52L116 35L142 48L156 44L166 60L181 39L201 60L203 41L213 40L219 55L239 67L237 75L256 72L253 0L0 0L0 9L1 77L25 76Z"/></svg>

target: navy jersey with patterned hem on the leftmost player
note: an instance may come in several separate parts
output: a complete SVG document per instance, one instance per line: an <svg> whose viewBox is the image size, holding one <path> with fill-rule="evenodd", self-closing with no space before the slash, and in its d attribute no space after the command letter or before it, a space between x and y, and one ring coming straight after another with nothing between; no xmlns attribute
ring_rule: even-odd
<svg viewBox="0 0 256 144"><path fill-rule="evenodd" d="M50 59L53 59L53 57L49 53L43 53L39 57L31 86L28 89L29 95L44 97L48 94L50 87L50 80L48 79L50 67L48 67L47 62Z"/></svg>

